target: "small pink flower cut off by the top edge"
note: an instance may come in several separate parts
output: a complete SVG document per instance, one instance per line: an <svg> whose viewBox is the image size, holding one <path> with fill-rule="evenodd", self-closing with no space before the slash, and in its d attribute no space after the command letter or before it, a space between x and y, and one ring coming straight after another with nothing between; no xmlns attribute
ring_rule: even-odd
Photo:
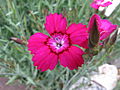
<svg viewBox="0 0 120 90"><path fill-rule="evenodd" d="M98 9L100 6L101 7L107 7L107 6L111 5L111 4L112 4L112 2L106 1L106 0L94 0L94 2L92 2L90 4L90 6L92 8Z"/></svg>

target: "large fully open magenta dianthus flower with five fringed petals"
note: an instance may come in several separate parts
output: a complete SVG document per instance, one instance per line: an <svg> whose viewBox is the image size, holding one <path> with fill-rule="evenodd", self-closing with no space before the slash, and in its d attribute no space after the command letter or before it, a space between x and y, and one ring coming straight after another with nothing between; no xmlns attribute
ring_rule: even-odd
<svg viewBox="0 0 120 90"><path fill-rule="evenodd" d="M46 17L45 29L50 36L39 32L28 40L28 50L37 69L53 70L60 61L60 65L73 70L84 63L84 51L75 45L87 48L86 25L73 23L67 28L66 18L55 13Z"/></svg>

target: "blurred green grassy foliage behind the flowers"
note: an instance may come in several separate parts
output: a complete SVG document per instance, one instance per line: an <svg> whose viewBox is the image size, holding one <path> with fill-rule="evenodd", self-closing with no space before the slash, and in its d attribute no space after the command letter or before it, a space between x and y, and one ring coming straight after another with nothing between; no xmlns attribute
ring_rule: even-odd
<svg viewBox="0 0 120 90"><path fill-rule="evenodd" d="M40 72L33 66L32 55L27 47L12 41L11 37L27 41L36 32L47 34L44 23L45 17L50 13L62 13L67 18L68 25L73 22L88 25L90 17L95 13L90 7L91 2L92 0L0 0L0 78L7 77L7 84L17 81L28 90L62 90L80 76L89 76L91 71L97 69L93 62L101 60L104 53L94 56L89 65L83 65L78 70L70 71L57 65L53 71ZM99 14L104 18L103 13ZM120 25L120 5L107 19ZM100 64L109 62L116 65L114 61L117 60L119 68L120 35L111 50L105 54ZM115 90L119 90L119 83L117 87Z"/></svg>

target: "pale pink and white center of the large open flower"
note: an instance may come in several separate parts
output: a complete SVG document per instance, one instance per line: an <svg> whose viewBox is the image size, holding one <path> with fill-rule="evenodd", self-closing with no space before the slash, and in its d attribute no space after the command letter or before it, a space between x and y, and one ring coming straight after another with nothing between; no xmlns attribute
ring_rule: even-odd
<svg viewBox="0 0 120 90"><path fill-rule="evenodd" d="M49 45L52 51L56 53L62 52L63 50L67 49L70 46L68 35L66 34L62 35L60 33L55 33L48 40L47 45Z"/></svg>

